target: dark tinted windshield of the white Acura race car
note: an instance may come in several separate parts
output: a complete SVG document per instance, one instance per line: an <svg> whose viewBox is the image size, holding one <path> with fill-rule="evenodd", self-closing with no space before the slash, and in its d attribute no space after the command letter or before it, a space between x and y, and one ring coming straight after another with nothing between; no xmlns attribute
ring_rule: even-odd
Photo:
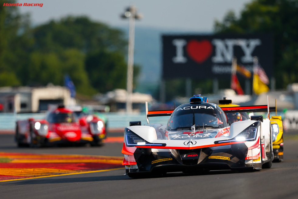
<svg viewBox="0 0 298 199"><path fill-rule="evenodd" d="M191 130L193 125L196 126L196 129L218 129L224 127L221 115L214 108L181 108L181 110L178 109L170 117L167 130Z"/></svg>

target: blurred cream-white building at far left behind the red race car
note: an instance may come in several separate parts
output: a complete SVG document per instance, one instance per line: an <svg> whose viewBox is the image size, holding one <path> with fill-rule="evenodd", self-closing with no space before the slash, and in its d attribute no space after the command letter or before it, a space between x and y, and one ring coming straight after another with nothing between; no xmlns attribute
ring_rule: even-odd
<svg viewBox="0 0 298 199"><path fill-rule="evenodd" d="M0 87L0 103L3 112L46 111L49 104L74 105L70 91L66 87Z"/></svg>

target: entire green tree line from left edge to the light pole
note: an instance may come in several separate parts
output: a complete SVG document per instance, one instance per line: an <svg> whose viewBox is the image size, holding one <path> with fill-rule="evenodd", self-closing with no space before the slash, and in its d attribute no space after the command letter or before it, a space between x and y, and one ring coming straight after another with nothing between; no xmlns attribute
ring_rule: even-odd
<svg viewBox="0 0 298 199"><path fill-rule="evenodd" d="M64 84L92 95L126 87L127 39L122 30L87 16L32 26L30 16L0 0L0 86ZM134 75L139 73L134 66ZM134 78L136 79L136 78Z"/></svg>

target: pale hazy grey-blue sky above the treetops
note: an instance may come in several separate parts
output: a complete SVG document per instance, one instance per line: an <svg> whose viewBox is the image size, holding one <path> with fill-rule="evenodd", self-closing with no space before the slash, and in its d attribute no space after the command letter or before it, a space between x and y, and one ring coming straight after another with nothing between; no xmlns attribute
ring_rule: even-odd
<svg viewBox="0 0 298 199"><path fill-rule="evenodd" d="M43 3L43 7L19 7L30 12L33 24L67 15L87 15L111 26L125 26L120 18L129 5L135 5L144 18L136 26L183 31L212 31L214 20L222 20L228 10L237 14L251 0L18 0Z"/></svg>

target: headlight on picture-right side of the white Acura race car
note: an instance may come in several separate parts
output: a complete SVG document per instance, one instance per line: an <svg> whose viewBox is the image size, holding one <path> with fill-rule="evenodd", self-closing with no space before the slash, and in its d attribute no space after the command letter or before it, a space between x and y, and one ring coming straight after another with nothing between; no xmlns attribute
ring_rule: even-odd
<svg viewBox="0 0 298 199"><path fill-rule="evenodd" d="M214 144L227 143L227 142L239 142L239 141L255 141L257 138L258 128L260 126L260 121L248 126L246 129L241 131L237 136L230 140L215 141Z"/></svg>

